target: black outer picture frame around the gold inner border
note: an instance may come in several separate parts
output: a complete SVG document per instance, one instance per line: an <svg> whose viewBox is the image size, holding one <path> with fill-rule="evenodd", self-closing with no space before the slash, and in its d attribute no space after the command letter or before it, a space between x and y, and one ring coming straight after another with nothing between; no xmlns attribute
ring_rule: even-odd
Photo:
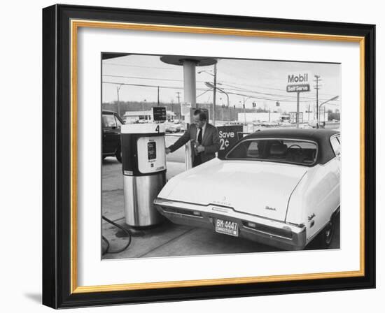
<svg viewBox="0 0 385 313"><path fill-rule="evenodd" d="M365 38L365 250L360 277L73 293L71 282L71 29L99 20L255 29ZM375 26L127 8L55 5L43 9L43 304L54 308L195 300L375 287Z"/></svg>

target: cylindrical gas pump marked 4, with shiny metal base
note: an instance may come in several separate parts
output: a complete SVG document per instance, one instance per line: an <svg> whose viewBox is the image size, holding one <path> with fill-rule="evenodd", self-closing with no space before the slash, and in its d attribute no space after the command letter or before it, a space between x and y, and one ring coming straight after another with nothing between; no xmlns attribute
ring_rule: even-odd
<svg viewBox="0 0 385 313"><path fill-rule="evenodd" d="M166 183L165 125L125 124L121 128L125 222L152 226L162 221L153 206Z"/></svg>

